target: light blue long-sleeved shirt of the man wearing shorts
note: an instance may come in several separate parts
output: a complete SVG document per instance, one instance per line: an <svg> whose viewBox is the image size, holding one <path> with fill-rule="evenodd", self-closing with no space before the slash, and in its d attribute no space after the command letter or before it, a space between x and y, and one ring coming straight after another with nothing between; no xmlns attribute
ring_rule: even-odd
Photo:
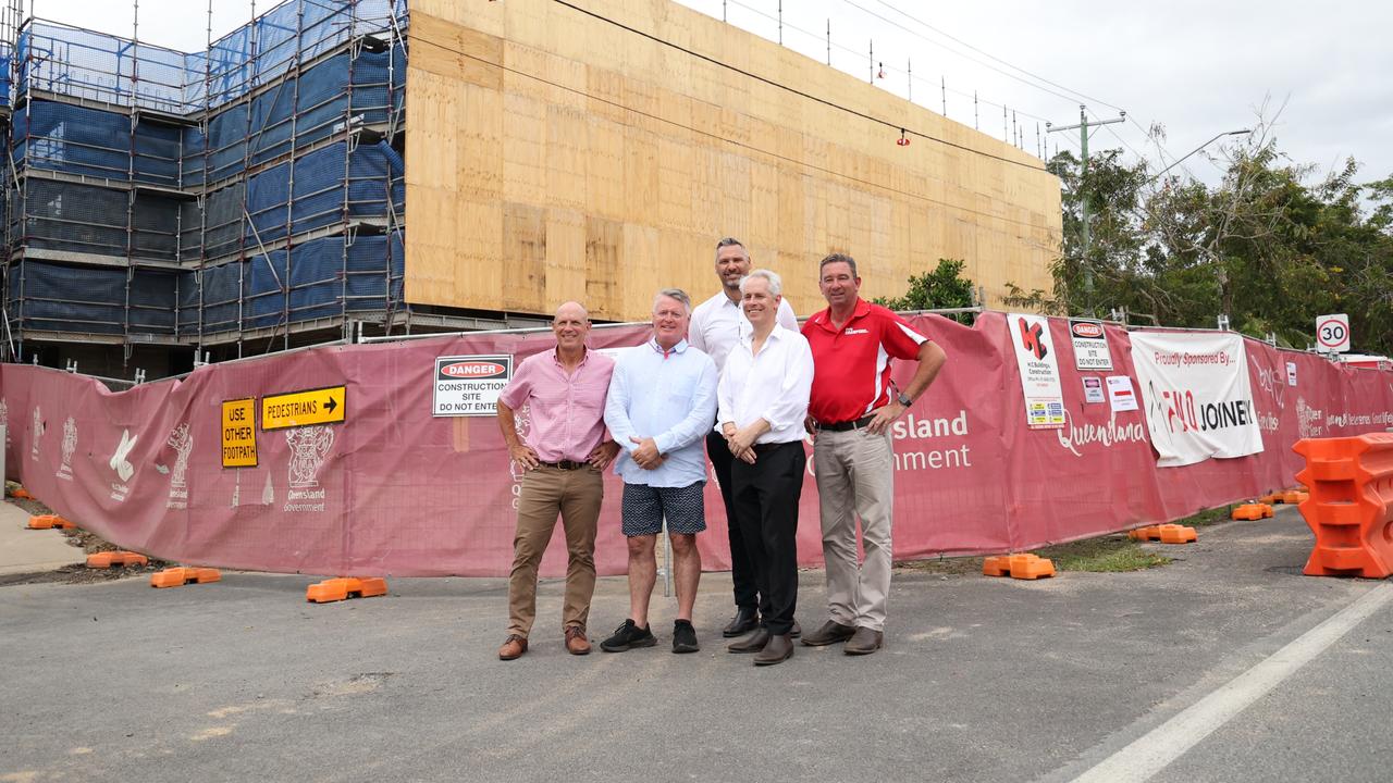
<svg viewBox="0 0 1393 783"><path fill-rule="evenodd" d="M716 419L716 362L683 340L670 351L657 340L620 355L605 400L605 425L624 447L614 472L625 483L688 486L706 481L703 440ZM630 436L652 437L667 461L638 467Z"/></svg>

